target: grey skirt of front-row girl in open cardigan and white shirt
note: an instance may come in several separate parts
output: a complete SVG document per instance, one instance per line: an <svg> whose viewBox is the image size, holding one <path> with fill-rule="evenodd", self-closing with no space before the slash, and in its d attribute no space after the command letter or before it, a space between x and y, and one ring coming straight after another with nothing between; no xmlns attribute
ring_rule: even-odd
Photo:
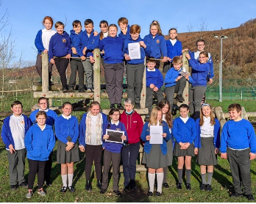
<svg viewBox="0 0 256 204"><path fill-rule="evenodd" d="M199 165L211 166L218 163L213 137L201 137L201 148L198 148L196 161Z"/></svg>

